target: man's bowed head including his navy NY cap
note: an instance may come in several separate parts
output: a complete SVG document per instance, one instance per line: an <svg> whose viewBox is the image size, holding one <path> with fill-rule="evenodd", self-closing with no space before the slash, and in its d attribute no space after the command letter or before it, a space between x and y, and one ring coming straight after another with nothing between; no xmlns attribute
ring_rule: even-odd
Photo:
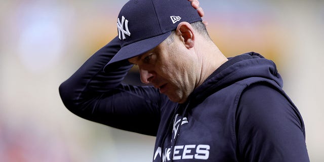
<svg viewBox="0 0 324 162"><path fill-rule="evenodd" d="M185 102L202 83L203 59L197 55L195 43L211 42L190 2L130 1L121 9L117 24L121 49L105 68L128 59L138 65L143 83L174 102Z"/></svg>

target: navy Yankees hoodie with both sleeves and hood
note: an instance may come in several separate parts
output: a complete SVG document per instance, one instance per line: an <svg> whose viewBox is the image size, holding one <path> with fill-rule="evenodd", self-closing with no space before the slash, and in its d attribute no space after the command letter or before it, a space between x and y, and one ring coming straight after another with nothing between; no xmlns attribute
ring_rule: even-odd
<svg viewBox="0 0 324 162"><path fill-rule="evenodd" d="M309 161L303 119L275 64L251 52L229 58L183 104L151 86L122 84L131 68L104 65L117 39L90 57L59 91L74 114L156 136L153 161Z"/></svg>

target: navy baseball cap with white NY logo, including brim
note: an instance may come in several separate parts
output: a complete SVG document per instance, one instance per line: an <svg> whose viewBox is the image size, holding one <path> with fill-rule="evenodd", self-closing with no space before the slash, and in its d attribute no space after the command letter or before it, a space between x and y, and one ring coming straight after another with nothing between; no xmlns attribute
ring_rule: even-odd
<svg viewBox="0 0 324 162"><path fill-rule="evenodd" d="M104 69L155 48L183 21L202 21L188 0L130 0L117 19L121 49Z"/></svg>

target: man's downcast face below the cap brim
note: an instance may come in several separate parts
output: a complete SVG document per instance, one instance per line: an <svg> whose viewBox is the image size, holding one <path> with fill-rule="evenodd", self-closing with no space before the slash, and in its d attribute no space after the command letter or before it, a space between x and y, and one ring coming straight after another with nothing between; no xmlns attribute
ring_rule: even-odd
<svg viewBox="0 0 324 162"><path fill-rule="evenodd" d="M183 103L195 88L196 64L193 55L176 39L129 59L138 65L141 81L159 89L171 101Z"/></svg>

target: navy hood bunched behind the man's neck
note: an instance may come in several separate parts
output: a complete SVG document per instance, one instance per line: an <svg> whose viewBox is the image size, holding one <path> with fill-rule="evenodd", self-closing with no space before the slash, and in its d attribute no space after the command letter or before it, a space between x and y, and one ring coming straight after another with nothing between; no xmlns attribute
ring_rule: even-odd
<svg viewBox="0 0 324 162"><path fill-rule="evenodd" d="M200 103L211 94L249 77L273 80L282 88L283 82L276 65L260 54L250 52L228 59L190 94L188 100Z"/></svg>

